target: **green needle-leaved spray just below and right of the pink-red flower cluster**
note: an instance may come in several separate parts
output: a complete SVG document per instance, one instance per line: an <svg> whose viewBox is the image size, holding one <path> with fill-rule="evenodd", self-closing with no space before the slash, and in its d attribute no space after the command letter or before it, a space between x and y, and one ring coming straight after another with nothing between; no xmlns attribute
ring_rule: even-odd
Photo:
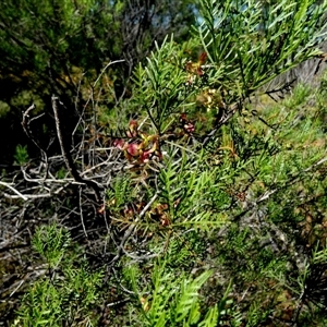
<svg viewBox="0 0 327 327"><path fill-rule="evenodd" d="M173 154L170 157L158 178L159 198L168 205L171 222L203 228L225 223L222 210L226 203L221 202L225 198L216 197L211 192L221 187L219 180L223 170L201 167L201 154L194 161L192 154L186 155L183 150L178 160ZM219 191L217 193L219 196ZM220 203L217 203L219 199ZM218 208L216 213L210 210L213 206Z"/></svg>

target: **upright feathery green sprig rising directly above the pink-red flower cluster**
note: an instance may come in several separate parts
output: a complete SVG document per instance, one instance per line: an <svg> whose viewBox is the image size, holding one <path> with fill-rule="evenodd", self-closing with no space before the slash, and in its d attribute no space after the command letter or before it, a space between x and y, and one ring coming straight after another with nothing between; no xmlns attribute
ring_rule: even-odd
<svg viewBox="0 0 327 327"><path fill-rule="evenodd" d="M168 37L160 47L157 44L156 47L156 52L147 59L147 65L140 64L135 70L133 82L143 93L136 93L134 100L146 110L156 132L161 134L169 126L172 114L181 111L192 93L185 87L182 50Z"/></svg>

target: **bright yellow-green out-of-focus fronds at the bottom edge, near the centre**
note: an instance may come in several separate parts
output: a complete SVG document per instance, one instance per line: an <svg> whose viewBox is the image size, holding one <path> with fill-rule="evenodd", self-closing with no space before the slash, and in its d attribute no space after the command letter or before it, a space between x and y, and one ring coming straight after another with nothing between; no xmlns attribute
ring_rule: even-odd
<svg viewBox="0 0 327 327"><path fill-rule="evenodd" d="M211 271L205 271L196 278L179 277L166 269L166 261L158 262L152 275L152 288L146 288L141 298L141 312L143 326L217 326L219 315L223 315L225 302L220 306L214 306L205 311L201 310L201 287L211 276ZM135 275L130 271L130 278Z"/></svg>

